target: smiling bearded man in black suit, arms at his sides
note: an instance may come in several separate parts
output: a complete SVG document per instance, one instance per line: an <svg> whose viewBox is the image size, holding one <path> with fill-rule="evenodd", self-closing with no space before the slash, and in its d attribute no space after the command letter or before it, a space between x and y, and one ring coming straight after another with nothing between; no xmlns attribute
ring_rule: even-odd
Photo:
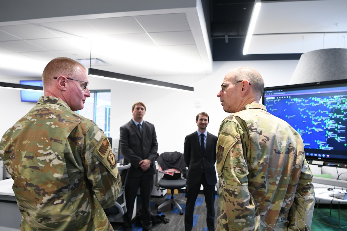
<svg viewBox="0 0 347 231"><path fill-rule="evenodd" d="M215 184L217 183L216 161L217 136L206 131L209 115L201 112L196 115L197 131L186 136L184 141L184 160L188 166L187 202L184 216L186 231L193 228L193 213L200 187L204 187L207 208L206 223L209 231L214 231L214 199Z"/></svg>

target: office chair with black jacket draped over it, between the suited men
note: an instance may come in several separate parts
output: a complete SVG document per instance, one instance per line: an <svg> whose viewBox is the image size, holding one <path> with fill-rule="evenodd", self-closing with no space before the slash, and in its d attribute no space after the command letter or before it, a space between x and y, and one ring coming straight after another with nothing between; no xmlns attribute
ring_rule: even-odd
<svg viewBox="0 0 347 231"><path fill-rule="evenodd" d="M187 186L187 182L183 178L183 176L186 176L187 174L186 171L188 168L185 165L183 154L178 152L174 152L174 153L165 152L165 153L162 153L161 155L168 155L167 156L168 158L163 158L163 156L160 156L160 158L158 158L155 185L157 186L158 189L159 188L170 189L171 198L165 199L164 202L160 205L158 203L156 203L155 205L158 207L158 213L161 213L160 209L168 204L171 204L171 209L174 208L174 205L176 205L177 208L180 210L179 214L183 215L184 212L182 211L182 207L179 205L179 203L185 204L186 201L174 198L175 189L178 190ZM162 176L162 173L159 172L160 164L162 164L162 166L164 165L166 169L169 169L169 168L173 168L172 166L177 166L178 163L180 163L180 166L179 166L180 172L174 173L173 176L171 176L170 174L163 174Z"/></svg>

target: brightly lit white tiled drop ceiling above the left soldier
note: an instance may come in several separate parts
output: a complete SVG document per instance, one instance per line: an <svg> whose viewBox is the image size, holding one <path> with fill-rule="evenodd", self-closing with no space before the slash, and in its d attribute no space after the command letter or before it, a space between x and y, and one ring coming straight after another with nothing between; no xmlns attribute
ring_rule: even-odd
<svg viewBox="0 0 347 231"><path fill-rule="evenodd" d="M58 16L58 12L51 18L35 10L30 15L31 11L19 7L26 10L28 18L23 20L18 15L18 21L0 21L0 54L13 53L27 59L32 63L28 71L36 70L37 75L42 74L41 62L60 56L102 59L109 65L91 67L140 77L205 74L212 70L211 51L208 38L202 36L207 36L206 26L200 24L204 20L202 8L194 4L189 8L184 5L125 12L107 9L95 14L87 9L85 15L76 9L76 15ZM102 4L98 7L107 8ZM13 14L19 12L16 9ZM194 25L193 30L190 25ZM206 60L204 65L201 60ZM40 68L34 68L33 63L39 63Z"/></svg>

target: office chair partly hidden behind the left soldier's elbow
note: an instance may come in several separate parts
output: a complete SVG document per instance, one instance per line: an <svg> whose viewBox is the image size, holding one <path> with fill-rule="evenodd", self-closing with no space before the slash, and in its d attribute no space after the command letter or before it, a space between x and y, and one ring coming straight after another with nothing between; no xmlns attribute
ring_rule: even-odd
<svg viewBox="0 0 347 231"><path fill-rule="evenodd" d="M127 165L117 166L120 177L122 179L122 188L119 191L116 203L111 208L104 209L107 218L110 222L122 222L122 216L127 212L127 206L125 202L125 184L127 182L128 170L130 168L130 163Z"/></svg>

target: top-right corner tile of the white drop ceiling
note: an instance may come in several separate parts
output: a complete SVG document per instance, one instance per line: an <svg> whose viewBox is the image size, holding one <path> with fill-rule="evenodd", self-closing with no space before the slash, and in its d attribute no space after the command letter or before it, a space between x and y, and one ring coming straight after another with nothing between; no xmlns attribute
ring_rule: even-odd
<svg viewBox="0 0 347 231"><path fill-rule="evenodd" d="M146 32L190 31L184 13L135 16Z"/></svg>

